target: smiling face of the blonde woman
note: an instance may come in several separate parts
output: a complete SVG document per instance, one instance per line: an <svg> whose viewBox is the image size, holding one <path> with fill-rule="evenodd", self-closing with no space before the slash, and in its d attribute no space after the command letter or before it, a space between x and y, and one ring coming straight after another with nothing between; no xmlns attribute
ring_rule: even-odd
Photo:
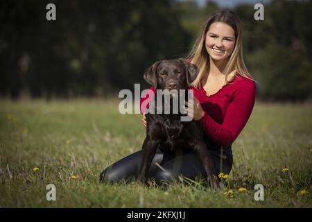
<svg viewBox="0 0 312 222"><path fill-rule="evenodd" d="M216 62L231 56L235 46L235 34L231 26L223 22L214 22L206 34L206 50Z"/></svg>

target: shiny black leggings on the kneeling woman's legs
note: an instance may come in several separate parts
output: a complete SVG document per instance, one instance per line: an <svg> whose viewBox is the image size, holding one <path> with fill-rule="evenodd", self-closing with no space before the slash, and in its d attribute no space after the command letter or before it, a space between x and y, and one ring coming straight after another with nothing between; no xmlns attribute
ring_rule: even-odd
<svg viewBox="0 0 312 222"><path fill-rule="evenodd" d="M211 150L209 155L214 162L217 173L229 174L233 162L231 147L225 150L221 148ZM135 178L139 171L141 157L142 151L137 151L115 162L101 173L100 181L113 183ZM200 176L206 177L207 173L200 158L195 153L164 153L157 148L146 177L154 178L157 185L162 185L163 182L172 182L179 176L196 180Z"/></svg>

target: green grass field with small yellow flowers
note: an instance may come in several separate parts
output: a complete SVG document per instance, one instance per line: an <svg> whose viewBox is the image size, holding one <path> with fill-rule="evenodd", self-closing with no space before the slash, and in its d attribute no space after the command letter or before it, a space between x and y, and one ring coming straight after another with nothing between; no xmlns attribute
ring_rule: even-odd
<svg viewBox="0 0 312 222"><path fill-rule="evenodd" d="M101 171L144 137L141 116L119 114L118 101L1 100L0 207L312 207L311 103L256 101L222 191L100 184ZM46 200L49 184L55 201ZM263 201L254 200L256 184Z"/></svg>

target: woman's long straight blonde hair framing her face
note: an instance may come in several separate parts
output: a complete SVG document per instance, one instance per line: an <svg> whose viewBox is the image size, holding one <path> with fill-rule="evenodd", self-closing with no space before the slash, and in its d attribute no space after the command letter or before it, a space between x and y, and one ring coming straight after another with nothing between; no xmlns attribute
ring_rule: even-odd
<svg viewBox="0 0 312 222"><path fill-rule="evenodd" d="M228 83L231 81L234 76L240 75L245 78L253 80L252 76L248 73L247 68L245 67L245 62L243 60L243 49L242 49L242 32L241 32L241 22L239 17L229 10L218 11L211 15L207 21L202 24L202 30L200 35L196 40L196 43L193 46L193 49L189 53L187 58L192 58L191 63L195 64L198 67L198 76L191 85L193 87L200 87L200 80L203 77L205 71L209 72L209 54L206 50L206 34L209 30L209 27L214 22L223 22L231 26L235 33L235 46L234 50L229 56L229 60L223 74L225 74L225 81ZM231 75L229 75L231 74Z"/></svg>

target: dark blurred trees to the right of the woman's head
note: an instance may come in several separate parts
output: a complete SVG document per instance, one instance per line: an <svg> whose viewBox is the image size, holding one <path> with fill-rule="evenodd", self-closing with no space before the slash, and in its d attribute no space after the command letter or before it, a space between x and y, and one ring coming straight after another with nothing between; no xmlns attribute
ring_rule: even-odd
<svg viewBox="0 0 312 222"><path fill-rule="evenodd" d="M243 23L246 64L260 83L259 98L312 99L311 1L272 1L263 22L252 19L248 6L235 10Z"/></svg>

